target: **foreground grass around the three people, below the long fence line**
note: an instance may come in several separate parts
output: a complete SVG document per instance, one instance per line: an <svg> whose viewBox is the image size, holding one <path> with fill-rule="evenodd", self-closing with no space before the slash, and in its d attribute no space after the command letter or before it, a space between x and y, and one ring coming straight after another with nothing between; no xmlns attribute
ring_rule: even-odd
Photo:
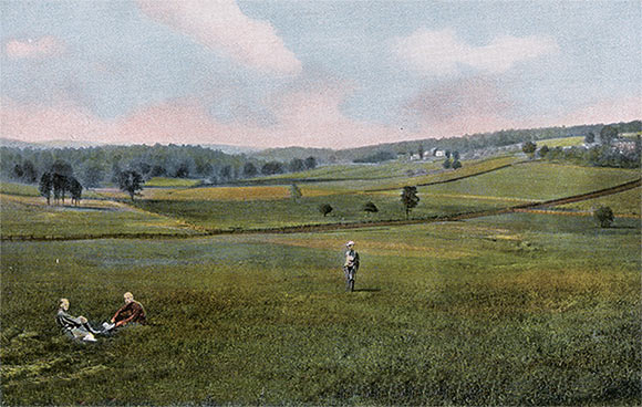
<svg viewBox="0 0 642 407"><path fill-rule="evenodd" d="M3 404L640 405L639 222L551 218L3 242ZM149 326L54 326L59 298L99 322L125 291Z"/></svg>

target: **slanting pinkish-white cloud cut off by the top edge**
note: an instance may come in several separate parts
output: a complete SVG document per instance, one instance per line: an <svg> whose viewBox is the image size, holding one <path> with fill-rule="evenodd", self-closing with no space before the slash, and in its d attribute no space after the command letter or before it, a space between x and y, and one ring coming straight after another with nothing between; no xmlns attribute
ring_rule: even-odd
<svg viewBox="0 0 642 407"><path fill-rule="evenodd" d="M242 13L235 0L137 0L153 20L260 71L298 74L301 62L275 28Z"/></svg>

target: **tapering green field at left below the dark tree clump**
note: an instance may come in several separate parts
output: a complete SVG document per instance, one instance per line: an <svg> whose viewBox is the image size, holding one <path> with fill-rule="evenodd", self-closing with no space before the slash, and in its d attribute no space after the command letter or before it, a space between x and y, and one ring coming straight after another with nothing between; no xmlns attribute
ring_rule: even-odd
<svg viewBox="0 0 642 407"><path fill-rule="evenodd" d="M43 198L0 196L2 237L84 237L103 234L190 234L183 222L110 201L46 206Z"/></svg>

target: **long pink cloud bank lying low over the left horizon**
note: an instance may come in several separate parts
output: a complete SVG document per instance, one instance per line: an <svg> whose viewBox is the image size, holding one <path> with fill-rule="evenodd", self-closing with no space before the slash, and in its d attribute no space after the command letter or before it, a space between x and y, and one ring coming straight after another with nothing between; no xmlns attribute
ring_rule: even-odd
<svg viewBox="0 0 642 407"><path fill-rule="evenodd" d="M354 121L341 111L350 91L338 84L290 90L270 101L273 124L220 122L199 100L184 98L147 106L113 121L61 103L22 105L3 101L0 136L30 142L75 139L115 144L230 144L259 147L304 145L350 147L396 139L398 129Z"/></svg>

